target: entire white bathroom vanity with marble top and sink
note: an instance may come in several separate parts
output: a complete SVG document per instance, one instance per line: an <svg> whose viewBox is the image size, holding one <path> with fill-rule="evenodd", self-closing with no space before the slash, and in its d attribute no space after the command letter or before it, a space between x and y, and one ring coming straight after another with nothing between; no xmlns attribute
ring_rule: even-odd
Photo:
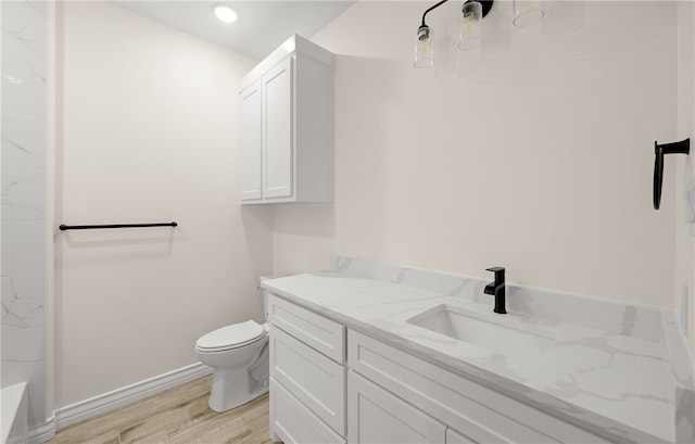
<svg viewBox="0 0 695 444"><path fill-rule="evenodd" d="M497 315L479 279L334 262L263 283L285 443L695 437L693 367L666 310L509 286Z"/></svg>

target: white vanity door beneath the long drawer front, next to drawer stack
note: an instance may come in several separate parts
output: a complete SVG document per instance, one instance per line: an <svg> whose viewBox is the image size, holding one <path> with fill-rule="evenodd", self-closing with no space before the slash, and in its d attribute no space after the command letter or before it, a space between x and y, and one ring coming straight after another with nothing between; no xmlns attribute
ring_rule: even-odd
<svg viewBox="0 0 695 444"><path fill-rule="evenodd" d="M445 426L405 401L359 375L349 372L349 443L444 444L445 431Z"/></svg>

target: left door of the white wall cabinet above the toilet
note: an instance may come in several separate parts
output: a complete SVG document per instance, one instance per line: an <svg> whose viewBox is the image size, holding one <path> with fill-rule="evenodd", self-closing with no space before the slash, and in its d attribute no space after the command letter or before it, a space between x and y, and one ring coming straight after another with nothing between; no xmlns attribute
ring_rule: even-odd
<svg viewBox="0 0 695 444"><path fill-rule="evenodd" d="M241 200L261 199L262 111L261 81L241 93L241 151L239 188Z"/></svg>

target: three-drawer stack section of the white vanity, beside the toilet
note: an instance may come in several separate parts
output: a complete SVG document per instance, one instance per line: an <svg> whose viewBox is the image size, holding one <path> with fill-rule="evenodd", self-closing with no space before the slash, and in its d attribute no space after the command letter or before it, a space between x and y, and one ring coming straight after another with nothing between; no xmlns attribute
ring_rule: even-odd
<svg viewBox="0 0 695 444"><path fill-rule="evenodd" d="M286 444L345 435L345 328L273 294L270 428Z"/></svg>

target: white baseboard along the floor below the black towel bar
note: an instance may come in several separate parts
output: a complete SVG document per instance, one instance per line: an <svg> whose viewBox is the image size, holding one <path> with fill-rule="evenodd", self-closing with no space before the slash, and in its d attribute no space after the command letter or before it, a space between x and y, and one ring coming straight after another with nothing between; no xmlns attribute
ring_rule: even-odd
<svg viewBox="0 0 695 444"><path fill-rule="evenodd" d="M213 372L212 367L202 363L193 364L168 373L160 375L131 385L80 401L54 413L54 417L41 426L29 430L29 442L41 443L50 440L58 430L67 426L113 411L167 389L192 381Z"/></svg>

